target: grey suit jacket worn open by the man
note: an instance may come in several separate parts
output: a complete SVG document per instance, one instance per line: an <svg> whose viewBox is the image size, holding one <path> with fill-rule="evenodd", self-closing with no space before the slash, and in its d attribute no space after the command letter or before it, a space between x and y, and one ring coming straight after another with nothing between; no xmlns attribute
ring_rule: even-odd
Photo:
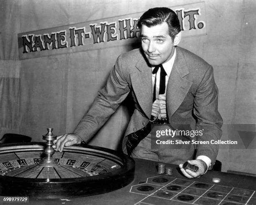
<svg viewBox="0 0 256 205"><path fill-rule="evenodd" d="M221 137L222 118L218 112L218 88L213 69L195 54L176 47L176 58L166 89L166 108L170 124L189 124L203 130L199 140L218 140ZM152 83L151 65L143 51L135 49L121 54L108 81L101 89L91 108L79 122L74 133L87 142L115 112L131 91L135 110L125 132L123 151L126 153L127 135L143 128L151 118ZM195 149L174 150L171 163L192 159ZM197 156L205 155L214 163L218 144L197 147Z"/></svg>

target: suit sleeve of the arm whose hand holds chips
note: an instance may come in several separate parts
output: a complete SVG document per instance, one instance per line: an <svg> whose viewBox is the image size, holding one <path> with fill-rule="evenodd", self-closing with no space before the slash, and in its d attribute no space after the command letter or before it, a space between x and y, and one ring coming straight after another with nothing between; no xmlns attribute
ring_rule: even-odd
<svg viewBox="0 0 256 205"><path fill-rule="evenodd" d="M196 157L205 155L211 159L213 165L219 145L211 144L211 140L220 139L223 120L218 112L218 88L214 81L212 66L208 67L197 88L193 112L197 117L196 129L202 130L202 136L198 136L197 140L209 142L209 144L198 145Z"/></svg>

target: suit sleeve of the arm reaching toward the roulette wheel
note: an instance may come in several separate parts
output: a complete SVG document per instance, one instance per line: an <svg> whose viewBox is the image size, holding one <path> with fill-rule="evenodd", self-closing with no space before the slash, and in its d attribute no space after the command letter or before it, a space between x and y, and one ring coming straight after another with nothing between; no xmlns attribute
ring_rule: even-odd
<svg viewBox="0 0 256 205"><path fill-rule="evenodd" d="M104 88L98 91L92 106L74 130L85 142L105 124L129 94L130 89L122 71L121 59L118 57Z"/></svg>

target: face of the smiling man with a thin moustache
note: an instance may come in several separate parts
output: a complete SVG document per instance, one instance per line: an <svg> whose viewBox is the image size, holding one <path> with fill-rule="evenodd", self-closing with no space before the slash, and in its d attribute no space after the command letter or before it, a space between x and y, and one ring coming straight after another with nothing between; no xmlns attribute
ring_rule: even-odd
<svg viewBox="0 0 256 205"><path fill-rule="evenodd" d="M174 53L174 45L166 22L141 27L141 46L152 66L168 61Z"/></svg>

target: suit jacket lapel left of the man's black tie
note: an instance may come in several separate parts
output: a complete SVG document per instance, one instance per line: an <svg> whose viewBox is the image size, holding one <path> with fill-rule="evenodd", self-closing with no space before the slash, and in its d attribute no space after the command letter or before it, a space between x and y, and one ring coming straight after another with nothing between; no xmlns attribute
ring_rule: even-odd
<svg viewBox="0 0 256 205"><path fill-rule="evenodd" d="M130 73L131 84L138 104L150 119L153 99L151 66L142 57L136 64L136 68L134 73Z"/></svg>

